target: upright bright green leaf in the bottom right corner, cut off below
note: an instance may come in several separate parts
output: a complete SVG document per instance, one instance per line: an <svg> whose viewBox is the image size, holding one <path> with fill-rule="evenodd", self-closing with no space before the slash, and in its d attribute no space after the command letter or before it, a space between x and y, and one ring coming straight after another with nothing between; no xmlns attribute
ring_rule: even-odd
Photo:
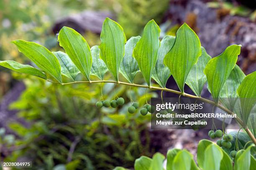
<svg viewBox="0 0 256 170"><path fill-rule="evenodd" d="M236 156L234 170L250 170L251 147L248 147L243 153Z"/></svg>

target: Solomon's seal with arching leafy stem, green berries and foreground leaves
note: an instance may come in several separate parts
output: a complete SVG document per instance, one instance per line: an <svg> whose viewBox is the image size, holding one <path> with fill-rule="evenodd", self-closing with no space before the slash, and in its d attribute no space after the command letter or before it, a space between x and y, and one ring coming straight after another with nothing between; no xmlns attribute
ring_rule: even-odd
<svg viewBox="0 0 256 170"><path fill-rule="evenodd" d="M0 65L16 72L31 74L61 85L108 82L115 85L146 88L146 90L161 90L161 97L162 92L166 91L202 100L219 107L230 115L236 113L238 117L235 119L241 129L244 129L250 137L249 142L256 144L255 115L251 114L251 112L254 112L252 110L256 103L256 71L246 76L236 65L241 45L230 45L222 54L212 58L201 46L198 36L186 23L177 30L176 37L166 35L160 41L160 31L155 21L151 20L146 24L141 37L131 37L126 41L123 28L115 21L106 18L100 34L101 44L90 48L84 37L77 31L63 27L59 32L58 40L65 53L60 51L50 52L46 47L35 42L12 41L18 47L18 50L33 61L39 69L10 60L0 61ZM113 75L113 80L104 80L107 71ZM128 82L119 81L119 72ZM134 84L134 78L138 72L143 75L146 85ZM76 81L79 73L87 80ZM100 80L91 80L90 75L95 75ZM171 75L174 77L180 91L166 88L166 82ZM62 76L68 77L70 82L63 82ZM152 86L151 78L160 87ZM206 82L214 99L213 101L201 97ZM184 92L185 84L191 88L195 95ZM224 98L232 98L233 100L224 100ZM99 101L96 102L96 107L116 108L121 107L124 103L125 100L117 95L111 101L104 99L102 95ZM239 103L238 112L235 112L236 103ZM138 110L139 108L140 110ZM147 115L148 112L153 113L155 109L153 105L148 104L147 100L144 107L140 107L131 98L131 106L128 107L127 111L129 113L139 111L141 115ZM164 111L166 114L168 112L172 113L168 110ZM192 128L198 130L199 127L194 126ZM217 130L213 122L212 130L209 131L208 135L212 139L223 138L217 141L217 145L205 141L204 143L207 143L207 145L210 143L207 148L204 145L204 152L207 152L207 154L198 150L201 151L201 154L199 154L197 162L201 168L230 166L230 157L234 158L233 161L235 161L236 166L236 162L243 162L244 157L249 153L249 151L241 151L238 141L240 135L237 133L234 141L234 136L227 134L224 126L223 130ZM222 147L223 150L232 149L228 152L230 157L219 147ZM171 167L170 169L187 169L176 164L177 160L186 160L186 162L191 160L188 169L197 169L191 154L187 151L176 150L174 153L171 154L172 157L176 156L167 161L167 164L169 164L167 167ZM204 154L205 158L201 158L201 155ZM211 156L215 154L219 156L215 157L216 160L212 160ZM238 157L238 155L240 156ZM163 156L160 157L163 158ZM167 160L168 158L167 155ZM156 160L154 157L152 160L150 158L140 159L143 160L141 163L146 161L145 163L151 165L151 162L160 158ZM252 162L255 161L253 159ZM228 164L224 165L226 161L228 161ZM135 163L135 169L137 169L136 166L142 166L137 164L138 162ZM151 169L154 169L154 164L152 164Z"/></svg>

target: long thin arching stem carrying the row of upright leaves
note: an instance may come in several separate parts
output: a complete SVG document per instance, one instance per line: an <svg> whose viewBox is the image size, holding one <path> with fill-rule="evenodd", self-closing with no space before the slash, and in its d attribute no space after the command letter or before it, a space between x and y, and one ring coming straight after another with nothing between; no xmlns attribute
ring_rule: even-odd
<svg viewBox="0 0 256 170"><path fill-rule="evenodd" d="M50 81L50 80L47 80L47 81L53 82L53 81ZM209 104L212 104L212 105L215 105L215 106L219 107L221 110L227 112L229 115L235 115L235 113L233 113L232 111L228 110L227 108L225 108L221 105L216 104L215 102L213 102L211 100L208 100L208 99L203 98L203 97L197 97L195 95L190 95L190 94L187 94L185 92L179 92L177 90L172 90L172 89L169 89L169 88L154 87L154 86L148 87L147 85L138 85L138 84L134 84L134 83L120 82L120 81L117 82L117 81L112 81L112 80L76 81L76 82L68 82L68 83L54 82L54 83L59 83L61 85L70 85L70 84L77 84L77 83L98 83L98 82L118 83L118 84L121 84L121 85L129 85L129 86L134 86L134 87L143 87L143 88L150 88L150 89L154 89L154 90L162 90L162 91L166 91L166 92L172 92L172 93L175 93L177 95L183 95L185 97L196 98L196 99L201 100L203 102L207 102ZM245 129L246 133L249 135L249 137L251 138L253 143L256 145L256 139L254 138L251 131L247 127L245 127L243 121L239 117L235 117L235 120Z"/></svg>

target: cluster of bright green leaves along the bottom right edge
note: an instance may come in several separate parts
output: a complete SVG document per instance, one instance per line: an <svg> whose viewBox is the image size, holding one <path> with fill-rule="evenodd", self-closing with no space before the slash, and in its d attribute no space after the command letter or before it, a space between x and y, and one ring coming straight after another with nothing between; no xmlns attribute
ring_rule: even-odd
<svg viewBox="0 0 256 170"><path fill-rule="evenodd" d="M255 148L255 146L253 146ZM164 155L154 154L153 158L141 156L134 163L135 170L249 170L256 166L256 160L251 155L253 147L240 152L235 159L225 153L215 143L201 140L197 147L197 164L193 155L187 150L171 149L168 151L166 167L163 166ZM234 162L234 167L232 164ZM114 170L128 170L116 167Z"/></svg>

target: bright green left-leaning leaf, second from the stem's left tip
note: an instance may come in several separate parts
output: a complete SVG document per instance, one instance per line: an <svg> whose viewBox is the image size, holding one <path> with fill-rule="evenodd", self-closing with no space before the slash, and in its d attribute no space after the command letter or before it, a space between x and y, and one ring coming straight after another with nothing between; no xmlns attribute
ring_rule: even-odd
<svg viewBox="0 0 256 170"><path fill-rule="evenodd" d="M33 61L39 68L62 83L59 61L46 47L35 42L24 40L14 40L12 43L14 43L19 51Z"/></svg>

